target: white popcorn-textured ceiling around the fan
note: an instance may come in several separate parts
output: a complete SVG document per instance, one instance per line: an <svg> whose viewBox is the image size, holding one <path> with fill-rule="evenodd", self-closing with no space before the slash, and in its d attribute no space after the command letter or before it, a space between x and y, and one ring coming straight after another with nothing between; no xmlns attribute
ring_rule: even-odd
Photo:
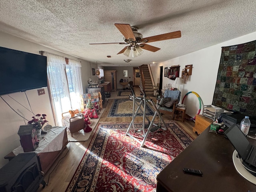
<svg viewBox="0 0 256 192"><path fill-rule="evenodd" d="M1 32L103 66L162 62L256 31L255 0L1 0L0 10ZM144 38L182 36L148 43L161 49L137 58L117 55L122 44L89 45L124 42L115 23Z"/></svg>

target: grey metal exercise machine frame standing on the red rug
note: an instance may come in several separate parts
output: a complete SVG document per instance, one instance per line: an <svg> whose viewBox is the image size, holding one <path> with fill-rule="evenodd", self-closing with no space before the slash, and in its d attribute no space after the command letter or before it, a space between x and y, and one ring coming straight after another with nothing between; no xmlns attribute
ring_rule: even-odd
<svg viewBox="0 0 256 192"><path fill-rule="evenodd" d="M165 124L164 120L162 119L161 113L159 112L159 110L154 105L153 100L151 98L149 98L149 99L146 98L145 91L139 86L144 94L143 94L142 97L136 97L133 87L130 86L130 84L128 84L128 85L129 85L130 89L132 90L132 95L130 95L130 99L133 100L133 109L132 109L132 122L130 123L130 125L129 125L125 135L126 136L130 136L131 138L133 138L134 140L139 142L140 143L140 147L142 147L142 146L144 146L144 143L145 143L146 138L147 138L148 134L150 133L150 131L154 132L154 131L158 130L159 128L161 128L162 130L167 130L167 127L166 127L166 124ZM138 104L136 100L140 101L140 103ZM152 106L154 108L154 110L155 110L154 116L153 116L151 121L146 116L146 106L147 106L148 103L150 103L151 104L150 106ZM141 109L141 106L143 106L143 104L144 104L144 110ZM138 106L136 112L135 112L135 105ZM135 120L139 110L143 113L143 124L142 124L142 129L136 130L135 126L134 126L134 120ZM159 116L159 119L160 119L159 126L154 123L154 120L155 120L155 118L157 116ZM149 125L145 125L145 119L147 119L148 122L150 122ZM161 126L161 122L164 124L164 127ZM154 127L153 127L153 125L154 125ZM144 137L143 140L140 141L137 138L135 138L134 136L132 136L131 134L129 134L130 128L133 128L134 132L142 131L143 132L142 136ZM146 130L146 132L145 132L146 128L148 130Z"/></svg>

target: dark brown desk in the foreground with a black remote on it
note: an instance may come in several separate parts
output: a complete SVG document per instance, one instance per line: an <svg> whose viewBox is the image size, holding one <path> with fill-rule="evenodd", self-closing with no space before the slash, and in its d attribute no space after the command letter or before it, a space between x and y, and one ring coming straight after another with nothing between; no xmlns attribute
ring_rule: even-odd
<svg viewBox="0 0 256 192"><path fill-rule="evenodd" d="M224 135L202 132L157 176L157 192L248 192L256 185L244 179L234 167L234 147ZM255 144L256 141L250 139ZM202 177L184 174L183 168L199 169Z"/></svg>

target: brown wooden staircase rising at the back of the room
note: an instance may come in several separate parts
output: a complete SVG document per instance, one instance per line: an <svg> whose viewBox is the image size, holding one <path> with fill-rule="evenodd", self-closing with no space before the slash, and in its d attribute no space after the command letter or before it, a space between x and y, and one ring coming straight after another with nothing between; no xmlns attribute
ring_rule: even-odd
<svg viewBox="0 0 256 192"><path fill-rule="evenodd" d="M148 69L148 65L142 65L140 66L140 74L141 74L141 81L144 91L146 92L147 96L153 96L154 89L152 80L150 77L150 72Z"/></svg>

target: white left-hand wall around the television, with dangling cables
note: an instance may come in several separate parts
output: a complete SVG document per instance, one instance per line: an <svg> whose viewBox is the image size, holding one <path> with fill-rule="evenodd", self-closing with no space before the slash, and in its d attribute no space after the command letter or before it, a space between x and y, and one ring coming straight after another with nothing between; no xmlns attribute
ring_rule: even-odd
<svg viewBox="0 0 256 192"><path fill-rule="evenodd" d="M54 54L58 54L61 56L65 56L68 58L72 58L75 60L80 60L73 56L69 56L67 54L63 54L61 52L57 52L55 50L51 50L44 46L40 46L38 44L34 44L32 42L28 42L26 40L22 40L20 38L10 36L8 34L4 34L0 32L0 46L11 48L15 50L21 50L24 52L30 52L34 54L39 54L40 50L48 51ZM89 68L97 68L96 64L90 63L84 60L80 60L82 64L82 82L83 82L83 91L86 92L87 88L87 80L91 75L92 70L88 70ZM98 76L93 76L95 79ZM94 79L93 78L93 79ZM28 96L28 100L30 102L32 111L35 114L46 114L46 120L49 121L51 125L54 124L54 118L52 113L52 108L50 104L50 97L48 93L48 89L44 88L45 94L38 96L37 89L28 90L26 94ZM10 94L12 98L20 102L23 106L30 109L28 101L26 99L26 95L24 92L12 93ZM23 106L15 102L12 98L8 95L3 95L2 98L6 100L10 106L16 110L19 109L25 116L26 119L31 120L32 113L26 110ZM9 152L14 150L16 147L20 145L20 137L18 136L18 129L20 125L24 125L27 121L24 122L23 118L18 116L3 100L0 98L0 168L4 166L4 164L8 163L8 160L4 159L4 156L7 155Z"/></svg>

